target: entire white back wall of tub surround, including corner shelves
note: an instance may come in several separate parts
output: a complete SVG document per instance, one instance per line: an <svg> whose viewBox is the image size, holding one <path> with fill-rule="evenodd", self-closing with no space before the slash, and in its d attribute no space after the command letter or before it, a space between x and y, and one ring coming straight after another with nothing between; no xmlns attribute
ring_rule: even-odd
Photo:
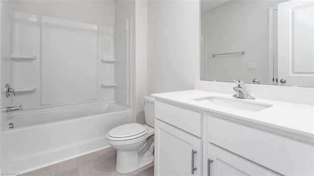
<svg viewBox="0 0 314 176"><path fill-rule="evenodd" d="M115 99L114 29L14 12L12 104L24 109Z"/></svg>

